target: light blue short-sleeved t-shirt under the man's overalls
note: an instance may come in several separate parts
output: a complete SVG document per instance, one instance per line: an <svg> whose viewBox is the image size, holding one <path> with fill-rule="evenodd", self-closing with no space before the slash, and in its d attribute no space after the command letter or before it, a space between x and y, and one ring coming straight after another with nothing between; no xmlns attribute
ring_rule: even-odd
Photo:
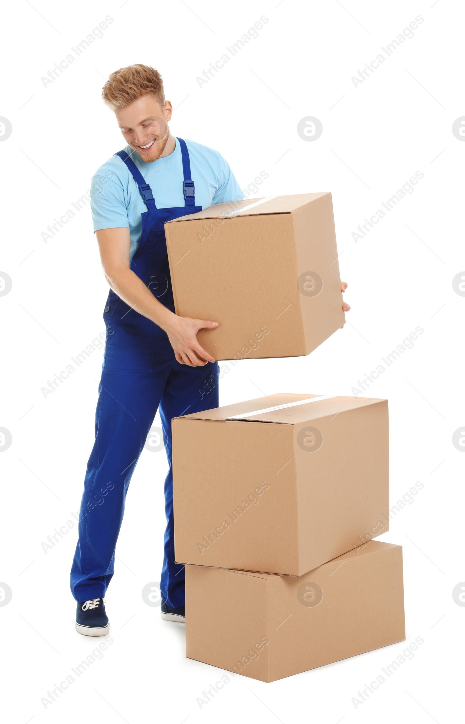
<svg viewBox="0 0 465 724"><path fill-rule="evenodd" d="M215 203L244 198L233 172L221 153L200 143L186 140L190 172L196 188L196 206L208 209ZM137 153L125 147L154 194L158 209L184 206L183 157L180 143L156 161L143 161ZM133 175L120 156L112 156L101 166L91 182L93 230L128 227L131 236L130 258L133 258L141 239L141 214L147 211Z"/></svg>

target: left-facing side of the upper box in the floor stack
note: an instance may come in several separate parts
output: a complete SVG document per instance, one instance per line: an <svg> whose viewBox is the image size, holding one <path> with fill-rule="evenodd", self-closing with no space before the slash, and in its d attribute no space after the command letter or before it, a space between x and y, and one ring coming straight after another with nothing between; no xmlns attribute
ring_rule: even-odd
<svg viewBox="0 0 465 724"><path fill-rule="evenodd" d="M292 458L290 426L174 420L176 560L295 574Z"/></svg>

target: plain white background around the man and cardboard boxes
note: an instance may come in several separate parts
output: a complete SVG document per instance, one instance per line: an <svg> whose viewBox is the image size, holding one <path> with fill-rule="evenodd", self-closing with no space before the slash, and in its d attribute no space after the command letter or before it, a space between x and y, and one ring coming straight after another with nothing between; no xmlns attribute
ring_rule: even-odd
<svg viewBox="0 0 465 724"><path fill-rule="evenodd" d="M104 37L44 87L41 77L107 15ZM200 87L196 77L262 15L269 22L259 37ZM355 87L351 77L417 15L424 22L414 38ZM465 143L452 124L465 114L463 5L20 0L4 7L2 20L0 115L12 124L0 143L0 269L12 279L0 298L0 426L12 434L0 456L0 581L12 589L0 607L4 720L455 720L465 610L452 590L465 580L464 456L452 436L465 423L465 298L452 279L465 269ZM53 394L45 398L41 387L104 331L107 293L88 208L47 243L41 232L125 145L100 93L110 72L136 62L162 73L175 106L172 132L219 150L242 188L266 171L257 198L333 195L348 324L309 357L238 364L223 376L220 404L259 397L257 387L351 395L382 357L424 329L362 393L389 400L391 505L424 483L381 538L403 546L406 644L416 636L424 644L357 708L352 697L406 644L271 684L235 676L199 707L197 697L225 672L185 659L183 627L162 623L159 608L141 597L159 581L164 531L167 465L163 451L148 450L131 482L107 594L113 644L53 704L41 703L95 648L74 629L77 526L52 550L41 543L79 507L102 350ZM296 132L306 116L323 127L310 143ZM414 193L355 243L356 227L416 171L424 177Z"/></svg>

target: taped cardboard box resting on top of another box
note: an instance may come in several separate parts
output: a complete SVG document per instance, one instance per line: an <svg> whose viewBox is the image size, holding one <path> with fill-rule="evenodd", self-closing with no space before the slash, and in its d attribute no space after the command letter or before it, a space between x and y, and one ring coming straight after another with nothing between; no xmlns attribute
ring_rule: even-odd
<svg viewBox="0 0 465 724"><path fill-rule="evenodd" d="M172 444L178 563L301 576L388 531L387 400L259 397Z"/></svg>

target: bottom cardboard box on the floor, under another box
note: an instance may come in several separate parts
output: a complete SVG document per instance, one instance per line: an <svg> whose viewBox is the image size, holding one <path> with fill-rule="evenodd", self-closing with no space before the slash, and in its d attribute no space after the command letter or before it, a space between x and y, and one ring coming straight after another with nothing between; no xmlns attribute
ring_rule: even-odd
<svg viewBox="0 0 465 724"><path fill-rule="evenodd" d="M405 639L401 546L372 541L300 578L185 574L186 657L243 676L276 681Z"/></svg>

